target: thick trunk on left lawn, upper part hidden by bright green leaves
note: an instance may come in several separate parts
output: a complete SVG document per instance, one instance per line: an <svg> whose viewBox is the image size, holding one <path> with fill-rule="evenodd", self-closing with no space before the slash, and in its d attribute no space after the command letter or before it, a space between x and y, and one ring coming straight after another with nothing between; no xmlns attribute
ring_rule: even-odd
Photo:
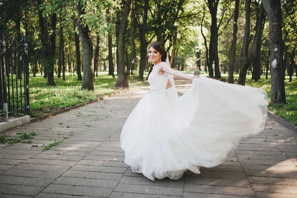
<svg viewBox="0 0 297 198"><path fill-rule="evenodd" d="M77 5L77 10L80 15L84 14L85 11L82 10L81 2ZM79 37L82 42L83 47L83 82L82 82L82 90L92 90L94 91L94 72L93 72L93 45L91 40L91 32L89 30L88 25L83 26L80 22L78 22L78 30Z"/></svg>

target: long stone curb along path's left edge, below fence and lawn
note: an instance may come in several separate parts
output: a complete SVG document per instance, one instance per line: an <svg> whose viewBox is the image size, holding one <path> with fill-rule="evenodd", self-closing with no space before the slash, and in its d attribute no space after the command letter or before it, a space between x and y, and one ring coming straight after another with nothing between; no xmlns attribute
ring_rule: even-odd
<svg viewBox="0 0 297 198"><path fill-rule="evenodd" d="M13 128L16 128L16 127L19 127L19 126L22 126L22 125L25 125L25 124L28 124L28 123L39 122L41 120L48 119L48 118L50 118L52 116L55 116L55 115L58 115L58 114L61 114L61 113L70 111L72 109L79 108L81 106L85 106L85 105L88 105L88 104L97 102L97 101L100 101L100 100L104 100L106 98L112 97L112 96L117 95L119 93L120 92L117 91L115 93L112 93L112 94L109 94L109 95L100 97L100 98L95 99L93 101L86 102L86 103L83 103L83 104L77 104L75 106L66 107L64 109L61 109L61 110L58 110L58 111L54 111L52 113L48 113L48 114L45 114L45 115L40 116L40 117L34 117L34 118L31 118L30 119L30 116L29 115L25 115L24 117L19 117L19 118L11 119L8 122L1 122L0 123L0 133L3 133L5 131L8 131L10 129L13 129Z"/></svg>

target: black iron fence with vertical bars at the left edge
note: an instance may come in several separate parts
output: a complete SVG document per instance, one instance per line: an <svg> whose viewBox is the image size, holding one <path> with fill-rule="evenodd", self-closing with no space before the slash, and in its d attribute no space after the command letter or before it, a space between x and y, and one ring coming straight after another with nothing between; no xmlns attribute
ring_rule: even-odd
<svg viewBox="0 0 297 198"><path fill-rule="evenodd" d="M29 114L29 65L26 37L17 41L0 32L0 116Z"/></svg>

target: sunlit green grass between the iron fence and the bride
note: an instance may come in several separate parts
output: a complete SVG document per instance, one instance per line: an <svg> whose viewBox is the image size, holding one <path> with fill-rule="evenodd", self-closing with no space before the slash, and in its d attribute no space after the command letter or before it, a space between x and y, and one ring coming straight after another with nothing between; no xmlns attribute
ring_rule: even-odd
<svg viewBox="0 0 297 198"><path fill-rule="evenodd" d="M69 73L66 73L66 81L55 77L56 86L53 87L47 86L47 79L40 74L36 77L30 74L29 82L31 117L38 117L65 107L90 102L117 92L116 89L112 89L115 86L116 78L107 75L107 72L99 72L99 77L95 77L94 92L81 90L82 81L77 81L77 76L69 76ZM144 82L137 80L137 76L131 76L131 88L143 84Z"/></svg>

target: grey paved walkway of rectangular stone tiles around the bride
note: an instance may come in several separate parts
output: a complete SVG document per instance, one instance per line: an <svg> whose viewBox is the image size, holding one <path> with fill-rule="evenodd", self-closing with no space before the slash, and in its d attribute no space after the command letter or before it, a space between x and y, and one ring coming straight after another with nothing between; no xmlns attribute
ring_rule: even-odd
<svg viewBox="0 0 297 198"><path fill-rule="evenodd" d="M177 84L183 93L191 82ZM8 131L39 135L31 144L0 148L0 198L297 198L297 133L272 119L262 133L243 138L225 163L199 175L152 182L133 173L119 136L147 92L143 87ZM63 138L69 139L42 151Z"/></svg>

